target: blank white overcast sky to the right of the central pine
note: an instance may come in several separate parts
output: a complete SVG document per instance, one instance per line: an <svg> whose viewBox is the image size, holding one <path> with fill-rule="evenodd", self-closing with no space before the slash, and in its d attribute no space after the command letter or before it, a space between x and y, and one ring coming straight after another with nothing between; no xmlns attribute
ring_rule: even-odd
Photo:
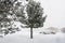
<svg viewBox="0 0 65 43"><path fill-rule="evenodd" d="M41 2L44 14L48 15L44 28L65 27L65 0L36 0Z"/></svg>

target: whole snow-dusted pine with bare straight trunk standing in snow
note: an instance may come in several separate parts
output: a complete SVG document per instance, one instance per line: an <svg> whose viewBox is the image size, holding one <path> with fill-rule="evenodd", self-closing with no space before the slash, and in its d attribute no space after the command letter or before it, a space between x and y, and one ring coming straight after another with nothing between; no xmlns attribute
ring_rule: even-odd
<svg viewBox="0 0 65 43"><path fill-rule="evenodd" d="M42 17L43 9L39 2L32 0L28 2L26 12L28 17L25 23L27 27L30 28L30 39L32 39L32 28L43 27L47 15Z"/></svg>

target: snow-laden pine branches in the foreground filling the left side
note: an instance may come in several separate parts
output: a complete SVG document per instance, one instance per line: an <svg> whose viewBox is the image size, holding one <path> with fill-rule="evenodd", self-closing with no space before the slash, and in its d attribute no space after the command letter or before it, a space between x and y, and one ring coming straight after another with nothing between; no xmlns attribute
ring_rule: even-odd
<svg viewBox="0 0 65 43"><path fill-rule="evenodd" d="M18 28L12 28L13 24L11 22L18 19L23 15L23 5L18 0L0 0L0 31L4 34L15 32L14 30L18 31ZM9 26L10 28L6 28ZM2 27L6 29L1 29Z"/></svg>

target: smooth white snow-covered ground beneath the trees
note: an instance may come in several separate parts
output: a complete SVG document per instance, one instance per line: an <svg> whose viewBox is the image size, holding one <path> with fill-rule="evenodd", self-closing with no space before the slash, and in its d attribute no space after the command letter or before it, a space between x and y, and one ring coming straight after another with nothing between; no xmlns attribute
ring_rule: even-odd
<svg viewBox="0 0 65 43"><path fill-rule="evenodd" d="M65 34L40 34L39 31L34 30L34 39L30 39L29 29L23 29L13 34L8 34L0 38L0 43L65 43Z"/></svg>

